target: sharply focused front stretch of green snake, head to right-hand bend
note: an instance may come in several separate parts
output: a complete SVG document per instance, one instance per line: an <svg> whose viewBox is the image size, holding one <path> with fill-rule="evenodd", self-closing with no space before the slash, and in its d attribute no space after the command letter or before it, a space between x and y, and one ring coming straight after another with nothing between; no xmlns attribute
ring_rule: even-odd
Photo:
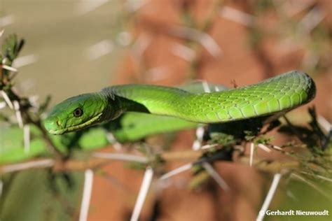
<svg viewBox="0 0 332 221"><path fill-rule="evenodd" d="M314 81L289 71L254 85L211 93L176 87L115 85L57 104L44 120L50 134L65 134L115 120L126 112L177 117L188 122L217 123L278 115L306 104L316 93Z"/></svg>

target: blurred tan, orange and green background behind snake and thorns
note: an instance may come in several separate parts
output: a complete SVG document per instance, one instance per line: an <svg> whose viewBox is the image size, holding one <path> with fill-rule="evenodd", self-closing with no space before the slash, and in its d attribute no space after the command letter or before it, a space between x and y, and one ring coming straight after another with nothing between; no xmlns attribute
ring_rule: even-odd
<svg viewBox="0 0 332 221"><path fill-rule="evenodd" d="M331 122L331 8L328 0L0 0L0 41L12 33L25 38L25 48L13 64L20 71L15 87L39 99L52 94L52 105L114 84L206 80L234 87L299 69L314 78L317 97L289 113L290 119L305 122L307 107L314 105L321 119ZM291 140L274 135L276 145ZM177 134L172 150L190 149L194 138L195 130ZM165 136L147 142L165 143ZM170 163L165 169L184 163ZM215 166L230 185L229 192L213 180L190 190L188 171L152 187L141 220L255 220L272 176L243 164ZM129 220L143 173L120 162L99 169L88 220ZM77 220L83 173L70 176L73 187L67 190L64 181L57 180L55 197L47 171L17 174L0 207L0 219ZM289 182L277 190L272 208L331 209L328 204L331 201L312 188Z"/></svg>

